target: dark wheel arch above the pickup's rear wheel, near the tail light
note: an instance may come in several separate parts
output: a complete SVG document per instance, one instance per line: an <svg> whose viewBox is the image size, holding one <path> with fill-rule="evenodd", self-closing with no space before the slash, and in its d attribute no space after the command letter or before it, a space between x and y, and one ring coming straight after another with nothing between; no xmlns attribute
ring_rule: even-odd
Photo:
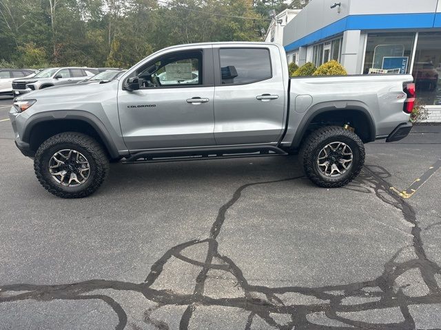
<svg viewBox="0 0 441 330"><path fill-rule="evenodd" d="M309 109L304 115L294 135L291 148L299 148L305 137L320 126L340 125L346 122L350 122L350 126L356 129L362 142L375 141L376 126L373 118L361 104L351 104L345 108L337 108L334 102L321 105L318 109Z"/></svg>

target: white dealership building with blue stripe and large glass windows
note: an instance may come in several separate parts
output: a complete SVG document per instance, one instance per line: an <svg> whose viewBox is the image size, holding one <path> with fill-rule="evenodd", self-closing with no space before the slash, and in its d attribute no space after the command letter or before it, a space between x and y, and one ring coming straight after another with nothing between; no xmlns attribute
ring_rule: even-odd
<svg viewBox="0 0 441 330"><path fill-rule="evenodd" d="M283 45L298 65L334 59L348 74L413 74L418 96L441 109L441 0L311 0Z"/></svg>

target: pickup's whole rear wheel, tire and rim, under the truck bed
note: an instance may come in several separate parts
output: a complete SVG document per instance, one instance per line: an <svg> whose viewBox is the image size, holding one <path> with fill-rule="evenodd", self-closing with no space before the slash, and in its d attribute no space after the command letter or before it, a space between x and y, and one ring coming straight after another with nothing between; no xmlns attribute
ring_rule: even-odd
<svg viewBox="0 0 441 330"><path fill-rule="evenodd" d="M338 188L349 184L365 164L360 137L340 126L312 132L300 151L305 174L317 186Z"/></svg>

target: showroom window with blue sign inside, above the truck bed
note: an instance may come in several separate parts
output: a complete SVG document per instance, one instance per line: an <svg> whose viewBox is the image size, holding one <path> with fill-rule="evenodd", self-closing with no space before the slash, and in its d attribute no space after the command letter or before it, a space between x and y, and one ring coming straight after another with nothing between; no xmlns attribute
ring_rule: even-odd
<svg viewBox="0 0 441 330"><path fill-rule="evenodd" d="M409 74L415 33L368 34L364 74Z"/></svg>

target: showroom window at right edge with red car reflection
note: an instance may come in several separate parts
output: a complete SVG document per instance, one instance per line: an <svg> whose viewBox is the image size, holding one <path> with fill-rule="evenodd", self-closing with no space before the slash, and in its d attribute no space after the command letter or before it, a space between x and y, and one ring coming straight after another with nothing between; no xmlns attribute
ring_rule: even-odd
<svg viewBox="0 0 441 330"><path fill-rule="evenodd" d="M418 34L412 75L418 99L427 105L441 105L441 32Z"/></svg>

